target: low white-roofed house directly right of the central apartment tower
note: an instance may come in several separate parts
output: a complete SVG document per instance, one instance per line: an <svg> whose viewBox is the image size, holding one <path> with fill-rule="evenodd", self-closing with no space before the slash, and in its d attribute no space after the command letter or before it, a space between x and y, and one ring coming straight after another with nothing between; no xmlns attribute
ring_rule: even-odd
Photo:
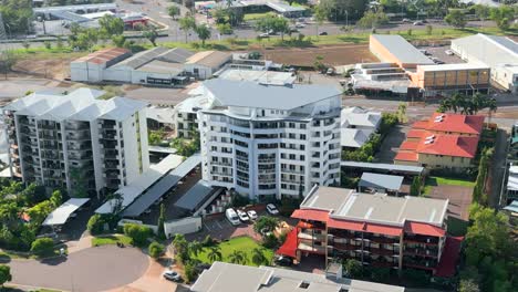
<svg viewBox="0 0 518 292"><path fill-rule="evenodd" d="M345 149L362 147L381 124L381 113L362 107L343 108L341 113L340 145Z"/></svg>

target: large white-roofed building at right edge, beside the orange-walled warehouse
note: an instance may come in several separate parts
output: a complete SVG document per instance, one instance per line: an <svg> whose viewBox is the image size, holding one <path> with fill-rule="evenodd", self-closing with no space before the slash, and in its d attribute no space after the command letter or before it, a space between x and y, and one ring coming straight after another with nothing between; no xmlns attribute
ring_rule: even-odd
<svg viewBox="0 0 518 292"><path fill-rule="evenodd" d="M452 41L452 51L467 62L490 67L491 80L518 92L518 43L506 36L475 34Z"/></svg>

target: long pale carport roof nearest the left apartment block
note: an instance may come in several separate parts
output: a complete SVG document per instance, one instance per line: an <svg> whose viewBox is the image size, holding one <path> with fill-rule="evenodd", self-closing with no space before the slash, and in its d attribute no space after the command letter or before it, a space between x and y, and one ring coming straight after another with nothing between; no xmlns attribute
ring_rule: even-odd
<svg viewBox="0 0 518 292"><path fill-rule="evenodd" d="M130 206L138 196L141 196L147 188L155 184L160 177L165 176L172 169L182 164L184 157L170 154L156 165L152 165L149 169L144 171L130 185L120 188L116 194L122 196L122 208ZM108 200L99 207L96 213L111 213L115 205L115 200Z"/></svg>

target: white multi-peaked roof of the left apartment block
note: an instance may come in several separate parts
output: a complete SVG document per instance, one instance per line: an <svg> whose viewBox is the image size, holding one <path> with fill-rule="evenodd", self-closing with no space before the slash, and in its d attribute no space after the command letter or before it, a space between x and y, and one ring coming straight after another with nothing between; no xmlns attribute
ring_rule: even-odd
<svg viewBox="0 0 518 292"><path fill-rule="evenodd" d="M68 95L32 93L15 100L3 108L15 111L17 115L34 116L50 121L93 121L108 118L123 121L128 115L146 107L146 103L124 97L99 100L103 91L77 88Z"/></svg>

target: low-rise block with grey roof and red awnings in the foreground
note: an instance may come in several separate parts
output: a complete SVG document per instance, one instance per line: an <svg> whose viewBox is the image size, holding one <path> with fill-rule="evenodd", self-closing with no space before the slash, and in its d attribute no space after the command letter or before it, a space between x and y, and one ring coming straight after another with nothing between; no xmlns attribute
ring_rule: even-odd
<svg viewBox="0 0 518 292"><path fill-rule="evenodd" d="M447 207L448 200L314 186L291 216L300 219L297 237L279 250L300 261L320 254L328 263L356 259L373 268L450 277L460 239L446 236Z"/></svg>

